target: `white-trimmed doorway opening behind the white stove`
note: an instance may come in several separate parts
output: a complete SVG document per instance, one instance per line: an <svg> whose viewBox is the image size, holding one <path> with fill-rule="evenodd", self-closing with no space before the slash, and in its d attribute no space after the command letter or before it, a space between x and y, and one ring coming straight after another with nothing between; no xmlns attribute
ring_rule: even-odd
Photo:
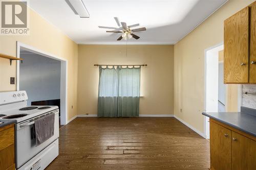
<svg viewBox="0 0 256 170"><path fill-rule="evenodd" d="M60 125L67 124L67 60L17 42L17 90L28 92L28 105L55 105ZM32 72L32 73L31 73Z"/></svg>

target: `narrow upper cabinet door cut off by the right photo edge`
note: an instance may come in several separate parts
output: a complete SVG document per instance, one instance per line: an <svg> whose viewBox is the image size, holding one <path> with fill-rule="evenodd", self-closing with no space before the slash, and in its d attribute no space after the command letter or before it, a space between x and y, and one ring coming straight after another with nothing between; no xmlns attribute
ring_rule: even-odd
<svg viewBox="0 0 256 170"><path fill-rule="evenodd" d="M256 2L250 6L250 71L249 82L256 83Z"/></svg>

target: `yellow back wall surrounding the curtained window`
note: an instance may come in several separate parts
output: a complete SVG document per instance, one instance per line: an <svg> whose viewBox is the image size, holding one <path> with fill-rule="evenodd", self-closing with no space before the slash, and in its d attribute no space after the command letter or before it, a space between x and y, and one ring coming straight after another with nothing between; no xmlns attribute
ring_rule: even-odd
<svg viewBox="0 0 256 170"><path fill-rule="evenodd" d="M141 69L140 114L173 114L173 45L78 45L78 114L97 114L98 67L147 64Z"/></svg>

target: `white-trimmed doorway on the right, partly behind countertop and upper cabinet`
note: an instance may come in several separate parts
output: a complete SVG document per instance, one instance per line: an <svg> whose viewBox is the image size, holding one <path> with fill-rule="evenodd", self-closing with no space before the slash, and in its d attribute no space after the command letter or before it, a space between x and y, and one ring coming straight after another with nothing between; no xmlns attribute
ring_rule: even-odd
<svg viewBox="0 0 256 170"><path fill-rule="evenodd" d="M224 45L205 50L205 112L237 112L241 107L241 85L224 84ZM209 117L205 116L205 136L210 138Z"/></svg>

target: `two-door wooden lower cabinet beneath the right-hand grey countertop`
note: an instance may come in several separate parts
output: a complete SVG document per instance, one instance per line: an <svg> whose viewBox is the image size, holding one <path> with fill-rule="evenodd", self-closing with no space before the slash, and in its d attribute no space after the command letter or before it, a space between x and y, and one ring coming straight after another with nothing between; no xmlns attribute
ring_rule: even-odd
<svg viewBox="0 0 256 170"><path fill-rule="evenodd" d="M255 170L256 137L210 118L210 169Z"/></svg>

